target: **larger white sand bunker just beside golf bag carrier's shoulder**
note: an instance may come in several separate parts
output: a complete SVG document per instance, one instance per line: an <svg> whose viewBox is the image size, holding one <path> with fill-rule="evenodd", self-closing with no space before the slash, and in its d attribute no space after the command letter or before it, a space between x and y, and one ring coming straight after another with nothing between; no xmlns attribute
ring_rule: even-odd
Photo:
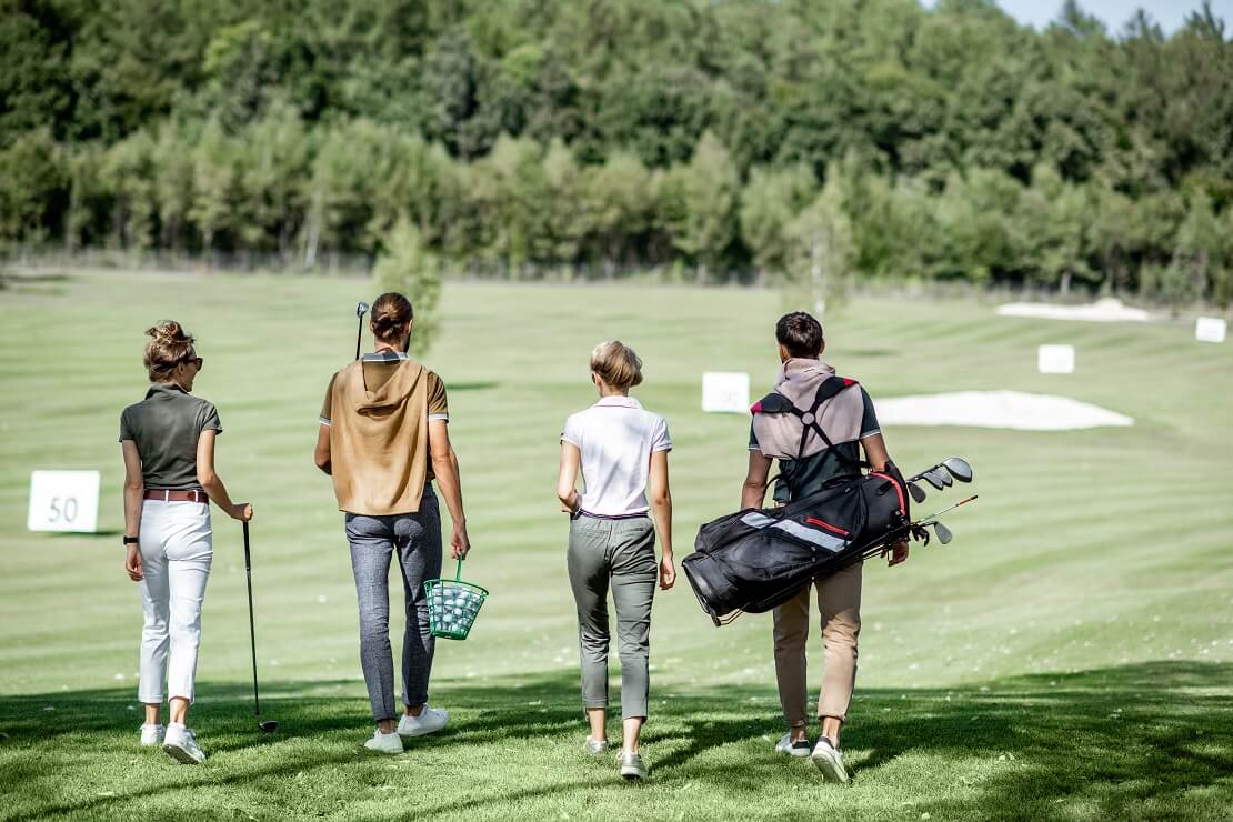
<svg viewBox="0 0 1233 822"><path fill-rule="evenodd" d="M883 425L968 425L1021 431L1063 431L1101 425L1134 425L1134 420L1069 397L1018 391L957 391L947 394L877 401Z"/></svg>

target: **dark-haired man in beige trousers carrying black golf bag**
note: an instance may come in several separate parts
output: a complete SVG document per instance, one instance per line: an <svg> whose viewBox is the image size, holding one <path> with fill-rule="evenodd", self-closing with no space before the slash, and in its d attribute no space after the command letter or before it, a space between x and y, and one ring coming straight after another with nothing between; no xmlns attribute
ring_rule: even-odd
<svg viewBox="0 0 1233 822"><path fill-rule="evenodd" d="M820 357L825 349L821 324L804 312L785 314L776 324L783 367L776 389L755 403L750 428L750 465L741 487L741 508L762 508L772 460L778 460L776 504L803 499L831 479L861 472L866 465L883 471L890 462L878 428L873 402L853 380L836 383L835 368ZM842 386L820 391L824 383ZM907 543L888 551L890 564L907 558ZM857 637L861 632L862 564L819 577L774 609L774 661L788 732L776 752L811 757L827 779L847 781L840 753L840 731L856 684ZM824 672L817 702L822 728L810 749L806 718L805 646L809 638L810 589L817 589L821 611Z"/></svg>

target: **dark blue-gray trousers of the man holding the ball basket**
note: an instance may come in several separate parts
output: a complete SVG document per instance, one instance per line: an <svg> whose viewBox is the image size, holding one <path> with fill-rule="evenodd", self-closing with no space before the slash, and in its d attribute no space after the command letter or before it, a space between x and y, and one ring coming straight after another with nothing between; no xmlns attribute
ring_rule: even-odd
<svg viewBox="0 0 1233 822"><path fill-rule="evenodd" d="M351 571L360 603L360 665L369 686L372 718L398 716L393 701L393 654L390 648L390 560L398 552L407 599L402 637L402 701L428 702L428 675L435 640L428 626L424 580L441 576L441 514L432 487L424 488L419 510L393 516L346 515Z"/></svg>

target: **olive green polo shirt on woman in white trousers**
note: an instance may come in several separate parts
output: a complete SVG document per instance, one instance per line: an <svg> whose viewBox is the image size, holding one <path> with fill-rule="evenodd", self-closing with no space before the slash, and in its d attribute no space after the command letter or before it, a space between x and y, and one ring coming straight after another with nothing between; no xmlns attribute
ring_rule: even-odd
<svg viewBox="0 0 1233 822"><path fill-rule="evenodd" d="M223 431L213 403L171 383L152 385L145 399L120 415L120 441L137 444L142 482L159 490L201 488L197 439L206 430Z"/></svg>

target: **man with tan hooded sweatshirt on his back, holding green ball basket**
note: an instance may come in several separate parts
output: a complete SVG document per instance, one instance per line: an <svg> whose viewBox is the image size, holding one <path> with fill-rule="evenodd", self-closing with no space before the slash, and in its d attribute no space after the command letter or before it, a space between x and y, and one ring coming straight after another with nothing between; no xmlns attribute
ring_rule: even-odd
<svg viewBox="0 0 1233 822"><path fill-rule="evenodd" d="M433 733L449 715L428 706L435 641L424 580L441 572L441 518L433 479L454 521L451 556L471 548L457 457L450 445L441 378L407 356L411 302L383 293L372 303L375 350L338 371L326 389L314 461L334 481L360 606L360 663L377 728L370 751L397 754L403 737ZM398 555L406 594L398 717L390 647L390 561ZM396 718L397 717L397 718Z"/></svg>

